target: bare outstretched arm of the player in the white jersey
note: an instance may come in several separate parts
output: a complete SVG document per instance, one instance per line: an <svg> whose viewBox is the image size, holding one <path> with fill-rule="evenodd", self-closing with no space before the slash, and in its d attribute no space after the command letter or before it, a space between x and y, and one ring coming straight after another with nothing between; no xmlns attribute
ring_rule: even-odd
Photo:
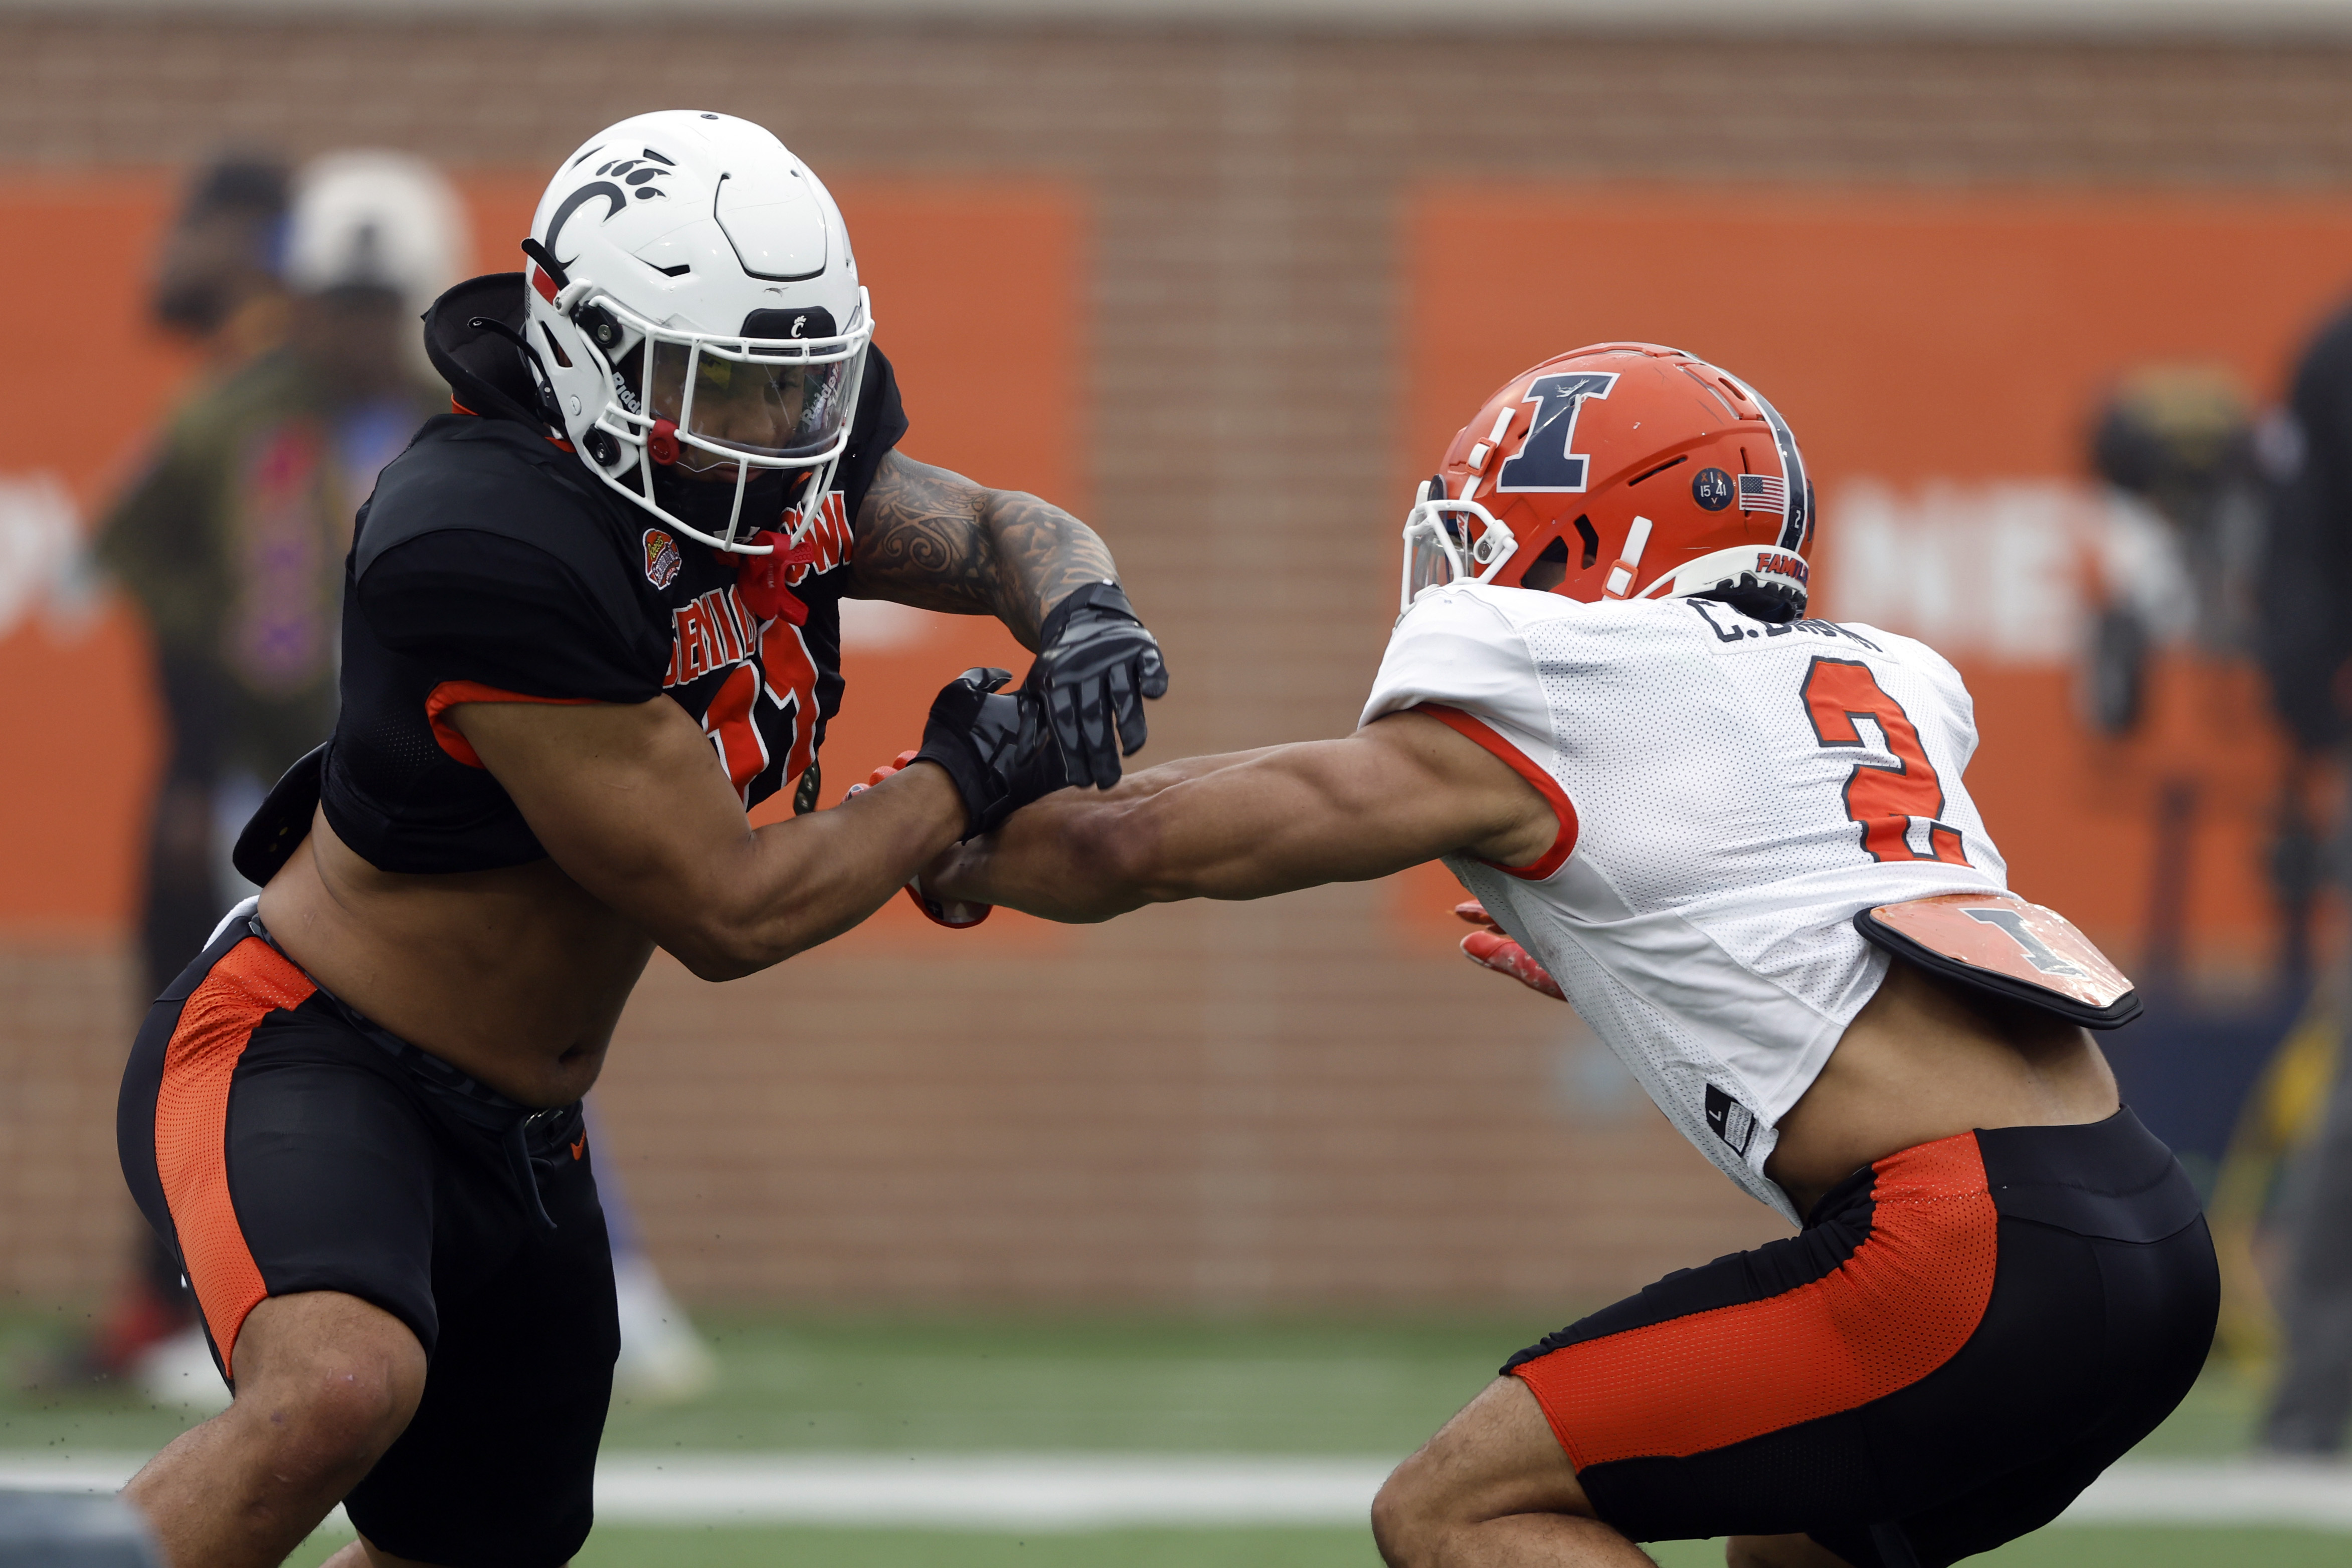
<svg viewBox="0 0 2352 1568"><path fill-rule="evenodd" d="M1562 825L1510 764L1418 712L1345 741L1272 745L1063 790L941 856L941 898L1110 919L1176 898L1265 898L1472 853L1534 865Z"/></svg>

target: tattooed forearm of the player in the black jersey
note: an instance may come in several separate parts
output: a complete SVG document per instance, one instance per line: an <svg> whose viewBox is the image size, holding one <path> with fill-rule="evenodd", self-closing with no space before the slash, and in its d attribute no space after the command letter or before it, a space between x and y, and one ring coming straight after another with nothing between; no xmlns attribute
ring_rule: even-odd
<svg viewBox="0 0 2352 1568"><path fill-rule="evenodd" d="M1047 611L1117 574L1094 529L1058 505L891 451L858 508L849 592L995 616L1035 651Z"/></svg>

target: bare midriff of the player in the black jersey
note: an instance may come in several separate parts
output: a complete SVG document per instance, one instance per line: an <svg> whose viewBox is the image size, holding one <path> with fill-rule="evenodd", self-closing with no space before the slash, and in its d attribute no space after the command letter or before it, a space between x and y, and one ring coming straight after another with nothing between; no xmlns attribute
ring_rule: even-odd
<svg viewBox="0 0 2352 1568"><path fill-rule="evenodd" d="M381 872L325 811L261 891L261 922L341 1001L522 1105L588 1093L654 952L553 860Z"/></svg>

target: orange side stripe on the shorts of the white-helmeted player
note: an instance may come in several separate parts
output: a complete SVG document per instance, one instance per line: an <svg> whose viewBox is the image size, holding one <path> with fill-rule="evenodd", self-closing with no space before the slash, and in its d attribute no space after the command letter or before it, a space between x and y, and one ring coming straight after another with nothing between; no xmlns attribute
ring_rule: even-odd
<svg viewBox="0 0 2352 1568"><path fill-rule="evenodd" d="M235 1378L238 1333L268 1286L228 1197L228 1084L261 1020L301 1006L318 985L249 936L212 966L179 1013L155 1095L155 1173L179 1234L205 1328Z"/></svg>

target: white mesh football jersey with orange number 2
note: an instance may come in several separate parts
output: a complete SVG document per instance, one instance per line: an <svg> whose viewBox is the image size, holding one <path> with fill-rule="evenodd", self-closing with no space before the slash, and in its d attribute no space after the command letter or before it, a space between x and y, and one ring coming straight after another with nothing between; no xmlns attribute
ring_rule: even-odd
<svg viewBox="0 0 2352 1568"><path fill-rule="evenodd" d="M1458 583L1397 621L1362 722L1404 708L1559 816L1534 865L1446 867L1684 1138L1802 1220L1764 1161L1886 976L1853 914L2006 889L1952 665L1870 625Z"/></svg>

